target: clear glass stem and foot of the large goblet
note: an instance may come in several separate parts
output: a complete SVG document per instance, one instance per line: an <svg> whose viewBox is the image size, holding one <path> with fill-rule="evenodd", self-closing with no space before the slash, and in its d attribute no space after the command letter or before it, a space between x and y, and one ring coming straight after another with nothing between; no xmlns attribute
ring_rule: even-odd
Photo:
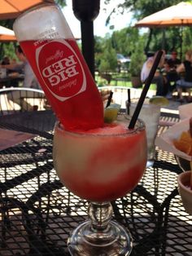
<svg viewBox="0 0 192 256"><path fill-rule="evenodd" d="M112 213L110 202L90 202L89 220L76 227L68 239L70 254L128 256L132 249L132 237L124 227L111 221Z"/></svg>

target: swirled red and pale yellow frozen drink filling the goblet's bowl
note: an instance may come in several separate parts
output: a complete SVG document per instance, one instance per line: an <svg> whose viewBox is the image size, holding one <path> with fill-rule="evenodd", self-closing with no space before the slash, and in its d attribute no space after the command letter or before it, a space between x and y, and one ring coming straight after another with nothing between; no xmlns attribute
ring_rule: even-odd
<svg viewBox="0 0 192 256"><path fill-rule="evenodd" d="M142 121L129 130L121 118L93 130L69 132L55 126L54 162L61 182L89 201L112 201L133 190L146 167Z"/></svg>

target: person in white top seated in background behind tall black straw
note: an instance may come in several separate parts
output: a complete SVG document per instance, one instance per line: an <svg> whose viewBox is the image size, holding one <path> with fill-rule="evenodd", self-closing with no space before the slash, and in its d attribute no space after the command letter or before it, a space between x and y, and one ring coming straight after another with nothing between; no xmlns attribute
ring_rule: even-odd
<svg viewBox="0 0 192 256"><path fill-rule="evenodd" d="M142 73L141 73L142 82L145 82L146 78L149 76L149 73L151 71L151 67L152 67L152 65L155 61L156 54L148 57L146 62L142 65ZM164 55L165 55L165 53L161 57L161 60L159 62L159 68L162 68L163 65L164 65ZM156 86L157 86L156 95L163 96L164 95L164 77L160 73L159 70L156 71L152 82L155 83Z"/></svg>

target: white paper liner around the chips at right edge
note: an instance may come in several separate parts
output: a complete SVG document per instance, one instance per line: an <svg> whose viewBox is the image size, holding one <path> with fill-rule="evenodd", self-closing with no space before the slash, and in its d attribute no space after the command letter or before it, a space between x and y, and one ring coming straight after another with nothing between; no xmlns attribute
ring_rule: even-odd
<svg viewBox="0 0 192 256"><path fill-rule="evenodd" d="M188 161L192 161L192 157L181 152L173 145L172 141L178 139L183 131L190 129L190 118L185 118L184 120L178 122L176 125L171 126L163 134L155 139L155 145L164 151L172 152L178 157L182 157Z"/></svg>

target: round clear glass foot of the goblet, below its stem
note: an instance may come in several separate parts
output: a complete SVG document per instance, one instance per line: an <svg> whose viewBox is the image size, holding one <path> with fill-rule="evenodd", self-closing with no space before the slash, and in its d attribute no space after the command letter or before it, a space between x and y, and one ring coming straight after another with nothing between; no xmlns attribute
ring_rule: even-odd
<svg viewBox="0 0 192 256"><path fill-rule="evenodd" d="M132 247L130 233L112 221L101 230L94 229L91 222L86 221L68 238L68 249L73 256L127 256Z"/></svg>

